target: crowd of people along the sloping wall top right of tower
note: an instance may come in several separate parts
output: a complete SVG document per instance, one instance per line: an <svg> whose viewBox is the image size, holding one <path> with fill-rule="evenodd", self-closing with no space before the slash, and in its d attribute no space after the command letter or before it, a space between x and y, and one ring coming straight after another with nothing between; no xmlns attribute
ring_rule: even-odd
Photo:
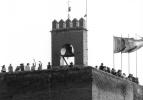
<svg viewBox="0 0 143 100"><path fill-rule="evenodd" d="M126 76L125 73L122 73L122 70L116 71L114 68L110 69L109 67L104 66L103 63L101 63L99 68L98 68L98 66L95 66L95 68L99 69L99 70L102 70L104 72L110 73L112 75L115 75L117 77L127 79L127 80L130 80L132 82L135 82L135 83L139 84L138 78L134 77L133 74L129 74L128 76Z"/></svg>

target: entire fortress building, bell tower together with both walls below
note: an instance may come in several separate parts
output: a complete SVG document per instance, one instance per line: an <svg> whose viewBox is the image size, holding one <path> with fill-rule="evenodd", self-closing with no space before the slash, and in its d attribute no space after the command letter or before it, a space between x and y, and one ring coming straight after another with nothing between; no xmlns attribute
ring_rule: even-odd
<svg viewBox="0 0 143 100"><path fill-rule="evenodd" d="M143 100L143 86L84 66L87 30L83 18L55 20L51 33L53 67L0 73L0 100ZM74 56L75 64L80 66L59 66L61 56Z"/></svg>

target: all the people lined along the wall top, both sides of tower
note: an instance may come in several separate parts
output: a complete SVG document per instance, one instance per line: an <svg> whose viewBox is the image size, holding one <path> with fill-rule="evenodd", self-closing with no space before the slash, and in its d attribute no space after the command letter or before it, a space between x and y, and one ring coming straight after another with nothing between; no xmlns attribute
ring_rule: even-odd
<svg viewBox="0 0 143 100"><path fill-rule="evenodd" d="M68 67L69 68L74 67L73 63L71 62ZM109 67L104 66L103 63L101 63L101 65L99 67L95 66L95 68L99 69L101 71L110 73L112 75L115 75L117 77L120 77L120 78L123 78L123 79L127 79L127 80L130 80L132 82L135 82L135 83L139 84L138 78L134 77L133 74L129 74L128 76L126 76L125 73L122 73L122 70L116 71L114 68L110 69ZM2 73L5 73L5 72L13 73L13 72L21 72L21 71L36 71L36 70L41 71L42 69L43 69L42 68L42 62L39 61L39 64L38 64L37 68L36 68L36 62L32 63L32 66L30 66L29 63L27 63L26 65L24 65L23 63L21 63L19 66L17 66L15 68L15 70L13 69L12 64L10 64L8 66L8 70L6 70L6 66L3 65L2 68L1 68L1 72ZM48 62L47 69L52 69L52 65L51 65L50 62Z"/></svg>

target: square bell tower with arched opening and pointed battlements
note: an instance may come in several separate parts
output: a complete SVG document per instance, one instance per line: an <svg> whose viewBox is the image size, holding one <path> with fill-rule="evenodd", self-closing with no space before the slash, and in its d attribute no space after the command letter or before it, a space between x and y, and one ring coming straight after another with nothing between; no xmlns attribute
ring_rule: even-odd
<svg viewBox="0 0 143 100"><path fill-rule="evenodd" d="M61 65L62 57L74 57L75 65L88 64L87 29L85 20L76 18L72 21L62 19L52 22L52 65ZM63 48L65 50L63 50ZM68 49L68 48L71 48ZM62 51L63 50L63 51ZM62 54L64 53L64 54Z"/></svg>

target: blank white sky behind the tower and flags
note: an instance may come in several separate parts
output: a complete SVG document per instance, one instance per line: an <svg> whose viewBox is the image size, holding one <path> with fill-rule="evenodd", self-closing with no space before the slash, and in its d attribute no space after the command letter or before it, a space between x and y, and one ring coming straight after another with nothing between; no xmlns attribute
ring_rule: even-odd
<svg viewBox="0 0 143 100"><path fill-rule="evenodd" d="M68 0L0 0L0 66L51 61L52 21L67 19ZM113 36L143 37L142 0L88 0L88 64L113 67ZM86 0L70 0L70 18L84 17ZM137 36L135 35L137 34ZM130 73L143 85L143 48L130 54ZM114 54L121 68L121 54ZM45 67L46 68L46 67ZM128 74L128 54L122 55Z"/></svg>

